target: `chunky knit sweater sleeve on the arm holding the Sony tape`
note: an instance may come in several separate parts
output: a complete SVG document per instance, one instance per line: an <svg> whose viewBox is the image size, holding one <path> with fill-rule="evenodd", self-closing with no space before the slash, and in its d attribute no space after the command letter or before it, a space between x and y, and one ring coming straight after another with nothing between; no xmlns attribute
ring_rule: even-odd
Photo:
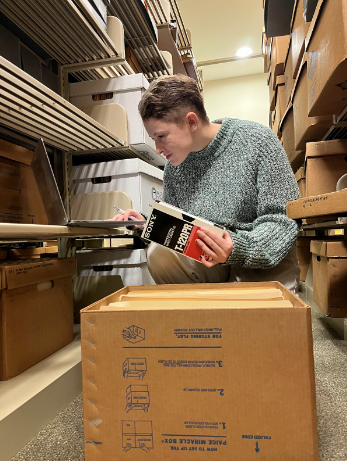
<svg viewBox="0 0 347 461"><path fill-rule="evenodd" d="M230 232L234 248L225 264L250 269L276 266L293 247L299 226L287 218L286 204L300 198L299 189L277 137L264 128L249 137L249 148L258 161L257 217L253 223L235 223Z"/></svg>

